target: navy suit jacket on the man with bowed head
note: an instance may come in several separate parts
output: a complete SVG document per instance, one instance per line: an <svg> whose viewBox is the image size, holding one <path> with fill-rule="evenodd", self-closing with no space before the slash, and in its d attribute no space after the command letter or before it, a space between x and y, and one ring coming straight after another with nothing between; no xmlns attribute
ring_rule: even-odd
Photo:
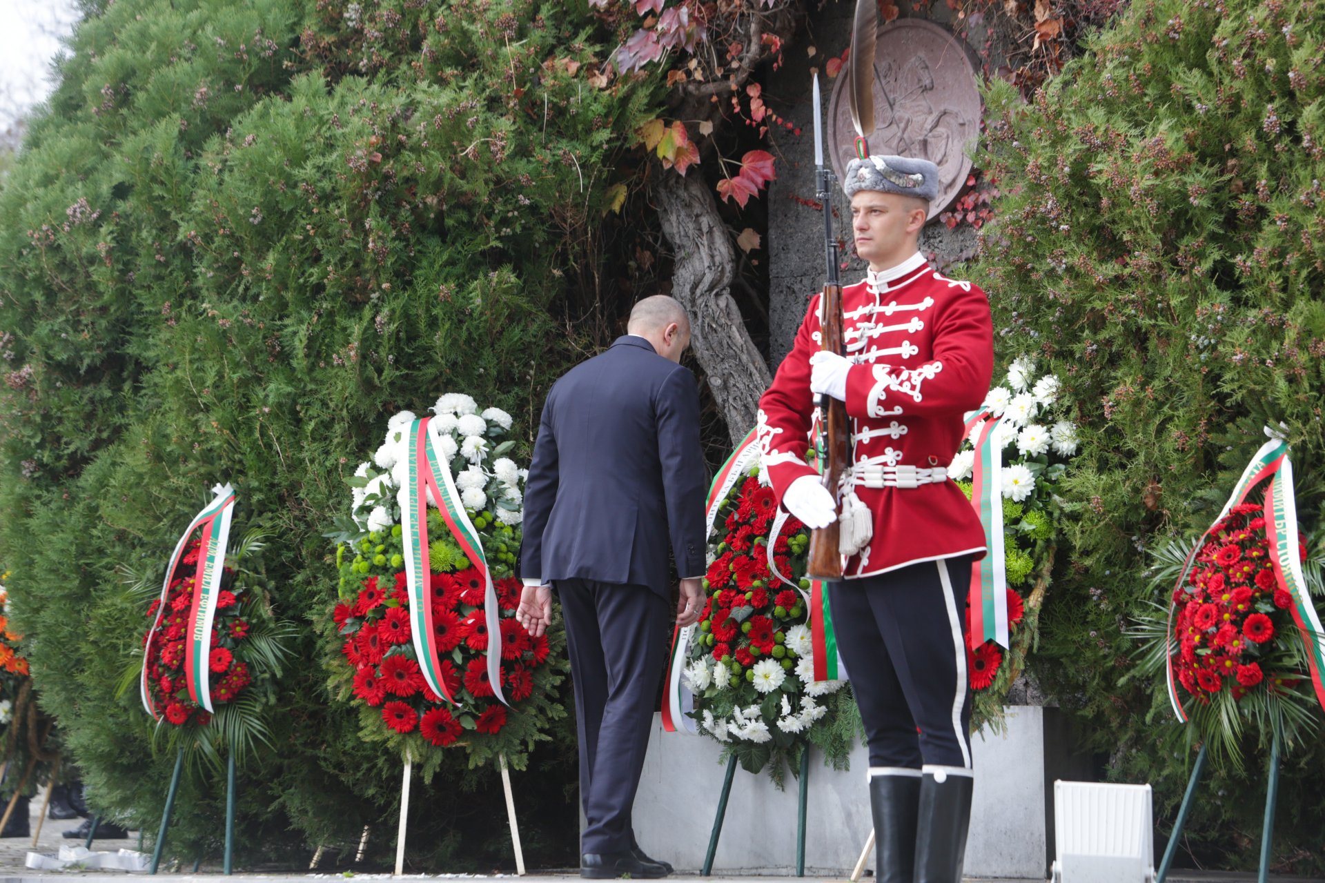
<svg viewBox="0 0 1325 883"><path fill-rule="evenodd" d="M700 393L689 369L625 335L547 393L525 486L519 572L647 585L706 569Z"/></svg>

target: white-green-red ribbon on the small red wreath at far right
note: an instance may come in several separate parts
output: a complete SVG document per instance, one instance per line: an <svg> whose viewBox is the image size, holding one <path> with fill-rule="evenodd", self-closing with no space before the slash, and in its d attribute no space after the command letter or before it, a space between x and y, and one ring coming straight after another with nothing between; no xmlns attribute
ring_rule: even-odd
<svg viewBox="0 0 1325 883"><path fill-rule="evenodd" d="M1186 585L1187 576L1191 573L1191 567L1196 559L1196 552L1206 544L1206 539L1215 524L1224 520L1224 516L1228 515L1228 511L1234 506L1246 502L1257 485L1269 479L1269 486L1265 488L1264 515L1265 539L1269 540L1269 545L1273 549L1271 564L1275 569L1275 581L1280 589L1288 592L1293 598L1289 610L1293 616L1293 622L1297 624L1302 646L1306 650L1306 666L1312 676L1312 686L1316 690L1316 699L1325 708L1325 630L1321 629L1321 621L1306 590L1306 581L1302 579L1302 565L1297 557L1300 539L1297 534L1297 503L1293 496L1293 463L1288 458L1288 442L1268 426L1265 428L1265 434L1271 440L1261 445L1256 455L1247 463L1247 469L1243 470L1242 477L1234 485L1232 494L1228 495L1228 502L1219 511L1219 516L1206 528L1200 539L1196 540L1196 544L1191 547L1191 552L1187 555L1187 560L1183 563L1182 572L1178 576L1178 582L1174 585L1174 594ZM1166 635L1169 661L1165 666L1165 675L1169 703L1173 706L1178 720L1186 723L1187 712L1182 707L1182 699L1178 696L1178 678L1174 670L1174 658L1179 653L1178 641L1173 634L1173 618L1177 609L1178 602L1170 600L1169 630Z"/></svg>

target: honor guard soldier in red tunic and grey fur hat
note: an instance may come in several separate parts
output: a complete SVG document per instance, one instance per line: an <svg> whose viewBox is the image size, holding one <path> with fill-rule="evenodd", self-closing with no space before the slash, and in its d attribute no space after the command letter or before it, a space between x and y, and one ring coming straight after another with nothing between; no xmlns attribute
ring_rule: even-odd
<svg viewBox="0 0 1325 883"><path fill-rule="evenodd" d="M963 413L988 391L990 306L917 249L938 191L934 163L856 159L843 189L856 252L869 262L841 294L847 355L822 348L815 295L759 401L758 437L782 506L824 527L836 506L806 462L806 438L816 396L845 402L844 579L828 597L869 743L876 874L881 883L959 883L973 785L966 604L986 547L946 467Z"/></svg>

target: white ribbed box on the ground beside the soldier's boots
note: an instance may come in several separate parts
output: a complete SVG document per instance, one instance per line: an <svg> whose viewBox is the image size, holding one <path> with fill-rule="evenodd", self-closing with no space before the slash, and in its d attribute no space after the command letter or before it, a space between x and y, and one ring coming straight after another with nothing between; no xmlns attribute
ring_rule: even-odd
<svg viewBox="0 0 1325 883"><path fill-rule="evenodd" d="M1053 782L1053 883L1153 883L1150 785Z"/></svg>

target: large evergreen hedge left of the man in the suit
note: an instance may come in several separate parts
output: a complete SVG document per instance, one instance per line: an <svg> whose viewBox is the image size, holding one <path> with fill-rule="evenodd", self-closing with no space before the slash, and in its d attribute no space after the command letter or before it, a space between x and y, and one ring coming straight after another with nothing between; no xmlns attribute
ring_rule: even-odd
<svg viewBox="0 0 1325 883"><path fill-rule="evenodd" d="M272 537L278 616L309 624L337 596L342 478L391 413L468 392L527 451L624 196L619 132L655 94L595 77L610 41L584 0L86 4L0 191L0 561L98 809L155 831L174 761L115 691L146 627L117 568L163 567L213 482ZM399 757L330 703L311 627L295 655L240 778L241 860L352 855L364 825L386 855ZM534 756L550 784L517 776L534 862L578 839L562 725ZM464 767L416 790L413 867L509 864L496 772ZM215 857L221 808L192 776L171 853Z"/></svg>

